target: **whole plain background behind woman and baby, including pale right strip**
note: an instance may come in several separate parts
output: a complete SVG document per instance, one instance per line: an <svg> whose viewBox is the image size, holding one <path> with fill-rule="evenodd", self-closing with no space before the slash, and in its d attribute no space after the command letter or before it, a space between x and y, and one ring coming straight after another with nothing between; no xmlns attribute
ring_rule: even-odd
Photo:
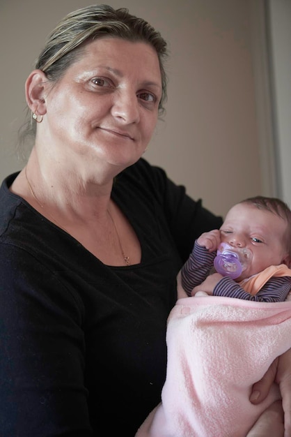
<svg viewBox="0 0 291 437"><path fill-rule="evenodd" d="M24 82L45 37L65 14L92 3L0 0L1 180L25 165L16 153ZM257 194L291 203L291 1L107 3L148 20L170 50L166 114L145 158L217 214Z"/></svg>

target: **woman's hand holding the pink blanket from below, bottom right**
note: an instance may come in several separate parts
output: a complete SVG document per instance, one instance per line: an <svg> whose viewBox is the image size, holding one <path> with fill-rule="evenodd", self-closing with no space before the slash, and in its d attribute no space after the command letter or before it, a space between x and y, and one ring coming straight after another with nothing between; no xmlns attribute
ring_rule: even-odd
<svg viewBox="0 0 291 437"><path fill-rule="evenodd" d="M253 385L250 401L254 404L263 401L267 397L269 389L274 381L278 383L281 391L282 401L279 401L279 404L281 405L281 413L278 403L275 403L276 405L273 404L273 406L265 410L265 412L259 417L258 422L247 437L291 437L291 349L276 358L262 379ZM283 434L280 434L279 432L281 415L283 415L285 430ZM269 417L273 417L272 420L276 419L274 420L274 424L272 423L272 427L278 427L277 431L273 432L273 434L273 428L270 426ZM257 429L257 434L254 434L255 429ZM259 430L262 431L259 433Z"/></svg>

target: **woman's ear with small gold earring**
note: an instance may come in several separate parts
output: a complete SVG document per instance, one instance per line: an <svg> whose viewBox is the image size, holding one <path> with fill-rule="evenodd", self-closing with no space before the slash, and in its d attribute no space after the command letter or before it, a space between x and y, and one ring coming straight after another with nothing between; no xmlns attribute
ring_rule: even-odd
<svg viewBox="0 0 291 437"><path fill-rule="evenodd" d="M44 115L47 112L45 105L45 84L47 77L41 70L31 71L25 82L26 102L31 112Z"/></svg>

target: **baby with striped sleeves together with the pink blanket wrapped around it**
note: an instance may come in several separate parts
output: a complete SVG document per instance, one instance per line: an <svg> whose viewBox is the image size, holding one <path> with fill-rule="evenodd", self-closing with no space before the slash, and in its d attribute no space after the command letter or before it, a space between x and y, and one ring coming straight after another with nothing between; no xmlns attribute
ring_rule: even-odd
<svg viewBox="0 0 291 437"><path fill-rule="evenodd" d="M234 279L228 269L211 273L214 265L220 270L217 257L226 245L235 260L242 255ZM281 302L291 288L290 251L291 212L275 198L243 200L220 230L200 235L168 316L162 402L136 437L245 437L281 399L276 383L262 403L249 398L253 384L291 348L291 302Z"/></svg>

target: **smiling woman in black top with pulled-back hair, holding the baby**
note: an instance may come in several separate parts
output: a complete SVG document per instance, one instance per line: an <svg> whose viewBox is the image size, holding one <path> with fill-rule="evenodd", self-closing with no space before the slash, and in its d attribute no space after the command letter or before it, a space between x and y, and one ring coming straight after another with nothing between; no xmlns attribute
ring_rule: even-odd
<svg viewBox="0 0 291 437"><path fill-rule="evenodd" d="M89 6L26 80L35 143L0 193L1 435L134 436L160 400L175 276L221 224L141 158L165 57L149 24Z"/></svg>

